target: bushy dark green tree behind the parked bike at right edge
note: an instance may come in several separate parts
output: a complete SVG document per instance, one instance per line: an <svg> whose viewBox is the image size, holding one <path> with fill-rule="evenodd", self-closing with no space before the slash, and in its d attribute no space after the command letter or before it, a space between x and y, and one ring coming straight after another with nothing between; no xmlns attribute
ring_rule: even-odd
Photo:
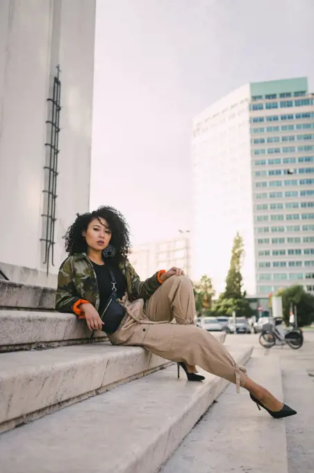
<svg viewBox="0 0 314 473"><path fill-rule="evenodd" d="M297 324L299 327L310 325L314 321L314 296L304 291L303 286L290 286L278 291L282 297L283 319L288 324L290 307L297 307Z"/></svg>

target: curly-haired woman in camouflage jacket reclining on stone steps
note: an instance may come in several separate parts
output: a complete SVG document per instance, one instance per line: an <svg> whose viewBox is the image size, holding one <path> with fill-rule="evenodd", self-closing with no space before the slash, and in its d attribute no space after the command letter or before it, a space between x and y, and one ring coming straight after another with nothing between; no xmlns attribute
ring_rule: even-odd
<svg viewBox="0 0 314 473"><path fill-rule="evenodd" d="M215 337L195 326L192 284L180 268L159 271L142 282L127 259L129 248L129 226L119 211L99 207L78 214L65 234L69 257L60 266L56 310L74 312L90 330L104 328L114 345L142 346L177 362L188 380L204 379L197 365L245 387L272 417L297 413L251 380ZM113 294L119 304L110 305ZM117 309L114 317L112 307ZM173 319L176 323L170 323Z"/></svg>

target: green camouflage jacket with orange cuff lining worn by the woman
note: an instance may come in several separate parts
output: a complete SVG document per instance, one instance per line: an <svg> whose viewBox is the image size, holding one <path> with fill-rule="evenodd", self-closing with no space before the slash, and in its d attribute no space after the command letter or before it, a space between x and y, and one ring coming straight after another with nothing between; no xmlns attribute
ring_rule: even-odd
<svg viewBox="0 0 314 473"><path fill-rule="evenodd" d="M160 287L158 275L164 272L160 271L143 282L140 281L135 269L127 259L119 264L119 269L126 278L126 292L130 300L149 299ZM79 315L81 311L77 310L76 306L81 300L88 300L98 310L99 289L96 273L85 253L69 256L61 264L58 274L56 310L74 312Z"/></svg>

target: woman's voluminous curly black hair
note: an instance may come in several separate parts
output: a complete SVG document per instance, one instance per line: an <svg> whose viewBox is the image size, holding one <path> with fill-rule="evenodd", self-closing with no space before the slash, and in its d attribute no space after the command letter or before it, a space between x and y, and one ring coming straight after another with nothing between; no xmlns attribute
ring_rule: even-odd
<svg viewBox="0 0 314 473"><path fill-rule="evenodd" d="M117 261L123 261L130 252L130 230L124 216L117 209L102 205L97 210L86 214L76 214L76 220L67 229L65 239L65 251L69 255L87 251L86 241L82 232L88 229L88 225L94 218L104 218L111 230L110 244L115 248Z"/></svg>

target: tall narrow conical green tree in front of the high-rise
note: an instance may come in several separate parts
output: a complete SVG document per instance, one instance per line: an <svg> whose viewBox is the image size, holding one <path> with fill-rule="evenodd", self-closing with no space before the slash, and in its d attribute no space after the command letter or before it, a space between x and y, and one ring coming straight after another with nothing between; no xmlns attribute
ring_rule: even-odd
<svg viewBox="0 0 314 473"><path fill-rule="evenodd" d="M249 301L245 298L245 291L242 291L241 267L243 253L243 239L237 232L233 240L230 268L226 276L226 289L220 294L213 309L217 315L231 316L233 311L236 312L237 316L250 317L254 314Z"/></svg>

